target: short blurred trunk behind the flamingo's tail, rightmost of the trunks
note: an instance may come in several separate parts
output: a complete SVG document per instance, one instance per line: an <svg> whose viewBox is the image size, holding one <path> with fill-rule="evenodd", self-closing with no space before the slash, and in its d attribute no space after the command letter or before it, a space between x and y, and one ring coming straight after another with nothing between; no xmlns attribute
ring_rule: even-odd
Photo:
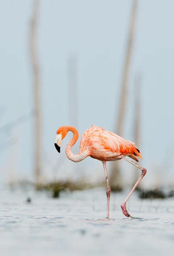
<svg viewBox="0 0 174 256"><path fill-rule="evenodd" d="M140 149L140 99L141 99L141 78L140 75L135 77L134 83L134 143L137 148ZM141 151L141 150L140 150ZM140 171L135 167L134 168L134 179L133 186L140 177ZM136 187L136 190L141 190L141 184L139 183Z"/></svg>

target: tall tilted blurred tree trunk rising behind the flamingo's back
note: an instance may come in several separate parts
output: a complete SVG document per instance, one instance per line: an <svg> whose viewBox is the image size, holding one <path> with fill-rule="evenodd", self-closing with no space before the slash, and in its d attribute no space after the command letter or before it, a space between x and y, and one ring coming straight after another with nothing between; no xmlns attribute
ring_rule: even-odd
<svg viewBox="0 0 174 256"><path fill-rule="evenodd" d="M127 86L128 86L128 74L130 71L131 54L133 48L134 30L135 30L135 18L137 14L137 0L134 0L132 7L132 14L129 27L129 35L125 56L125 64L123 68L123 77L121 82L121 96L120 106L118 110L118 119L116 133L119 136L123 136L123 121L126 116L126 100L127 100ZM111 190L120 191L123 189L123 184L120 175L120 161L113 161L111 163Z"/></svg>

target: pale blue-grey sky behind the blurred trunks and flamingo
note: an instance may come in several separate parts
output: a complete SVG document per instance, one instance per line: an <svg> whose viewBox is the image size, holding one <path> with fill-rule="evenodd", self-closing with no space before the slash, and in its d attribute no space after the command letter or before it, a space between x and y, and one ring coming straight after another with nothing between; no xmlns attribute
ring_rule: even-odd
<svg viewBox="0 0 174 256"><path fill-rule="evenodd" d="M33 108L28 44L32 3L31 0L0 2L0 106L6 111L0 125ZM131 4L130 0L40 1L38 49L43 105L42 148L43 156L47 154L52 165L60 157L65 157L65 146L70 139L68 136L63 140L62 152L58 155L54 148L56 130L62 125L71 125L68 120L69 54L77 54L80 136L91 124L114 131ZM167 182L174 180L173 10L172 0L140 0L138 5L123 137L134 141L134 77L141 73L140 150L143 152L141 163L148 170L146 184L151 183L155 175L154 164L163 167L168 158L169 165L163 169L161 178L166 177ZM9 162L17 177L31 178L33 175L32 119L13 132L18 137L18 143L11 153L9 148L0 151L3 181L8 177ZM2 145L7 139L0 134ZM13 162L10 154L14 153ZM76 165L66 160L58 177L72 177L71 170ZM86 159L78 165L83 167L80 175L87 174L87 171L87 177L94 176L94 173L95 177L103 175L102 164L97 160ZM132 175L132 166L124 163L123 167L123 174L128 171L128 175ZM51 172L44 157L43 168L44 172Z"/></svg>

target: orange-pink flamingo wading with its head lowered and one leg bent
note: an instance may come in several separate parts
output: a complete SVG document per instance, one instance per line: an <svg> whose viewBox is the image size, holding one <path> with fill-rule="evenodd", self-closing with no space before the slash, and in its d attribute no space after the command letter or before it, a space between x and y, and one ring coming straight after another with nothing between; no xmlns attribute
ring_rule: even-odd
<svg viewBox="0 0 174 256"><path fill-rule="evenodd" d="M142 158L140 150L136 148L133 142L125 140L111 131L106 131L102 127L91 125L91 128L83 132L82 137L80 139L80 151L77 155L75 155L71 152L71 148L78 139L78 131L73 126L61 126L57 130L57 137L54 143L55 148L59 153L61 140L63 140L68 131L73 132L73 137L67 144L65 150L66 156L69 160L73 162L80 162L86 157L92 157L94 159L100 160L103 163L107 185L107 219L109 218L109 201L111 195L111 188L108 180L106 162L123 159L133 164L142 171L140 178L137 180L134 187L131 189L131 192L128 194L123 204L121 204L123 214L126 217L131 217L131 215L128 213L126 209L126 203L134 189L137 187L140 180L142 180L143 177L145 176L146 169L141 167L137 163L134 163L133 161L129 160L128 158L126 158L126 156L139 162L137 157Z"/></svg>

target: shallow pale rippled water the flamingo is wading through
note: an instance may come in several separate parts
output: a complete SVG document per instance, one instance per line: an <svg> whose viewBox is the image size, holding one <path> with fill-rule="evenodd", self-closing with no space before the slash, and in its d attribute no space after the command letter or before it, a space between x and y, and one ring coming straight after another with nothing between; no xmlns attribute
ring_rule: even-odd
<svg viewBox="0 0 174 256"><path fill-rule="evenodd" d="M122 214L126 193L111 194L106 220L103 189L62 193L0 191L2 256L151 256L174 255L174 199L140 201L132 195ZM31 203L26 203L27 196Z"/></svg>

